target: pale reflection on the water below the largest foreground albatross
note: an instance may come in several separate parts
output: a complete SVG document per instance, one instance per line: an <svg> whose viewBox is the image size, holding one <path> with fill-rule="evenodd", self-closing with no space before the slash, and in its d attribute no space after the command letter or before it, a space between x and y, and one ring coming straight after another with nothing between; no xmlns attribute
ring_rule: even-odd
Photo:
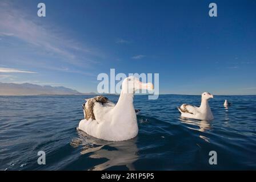
<svg viewBox="0 0 256 182"><path fill-rule="evenodd" d="M121 141L109 142L97 139L78 130L79 138L71 141L71 146L82 146L81 155L89 154L92 159L108 159L107 162L98 164L90 170L104 170L113 166L126 166L129 170L135 170L133 163L138 159L138 148L135 143L137 138Z"/></svg>

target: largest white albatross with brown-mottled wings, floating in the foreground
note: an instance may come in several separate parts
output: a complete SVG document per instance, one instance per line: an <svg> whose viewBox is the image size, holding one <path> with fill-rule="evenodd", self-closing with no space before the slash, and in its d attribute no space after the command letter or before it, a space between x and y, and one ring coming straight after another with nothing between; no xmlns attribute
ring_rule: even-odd
<svg viewBox="0 0 256 182"><path fill-rule="evenodd" d="M153 84L142 83L136 77L127 77L122 82L122 91L117 104L106 97L97 96L87 100L84 106L85 119L78 129L99 139L122 141L138 134L137 116L133 106L136 90L153 90Z"/></svg>

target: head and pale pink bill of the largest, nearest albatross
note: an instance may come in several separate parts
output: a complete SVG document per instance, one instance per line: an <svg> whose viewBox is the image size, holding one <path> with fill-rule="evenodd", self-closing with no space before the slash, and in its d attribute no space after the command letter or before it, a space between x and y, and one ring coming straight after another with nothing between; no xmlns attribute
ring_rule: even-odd
<svg viewBox="0 0 256 182"><path fill-rule="evenodd" d="M122 82L122 90L125 93L135 93L136 90L140 89L153 90L154 85L151 82L143 83L134 76L129 76Z"/></svg>

